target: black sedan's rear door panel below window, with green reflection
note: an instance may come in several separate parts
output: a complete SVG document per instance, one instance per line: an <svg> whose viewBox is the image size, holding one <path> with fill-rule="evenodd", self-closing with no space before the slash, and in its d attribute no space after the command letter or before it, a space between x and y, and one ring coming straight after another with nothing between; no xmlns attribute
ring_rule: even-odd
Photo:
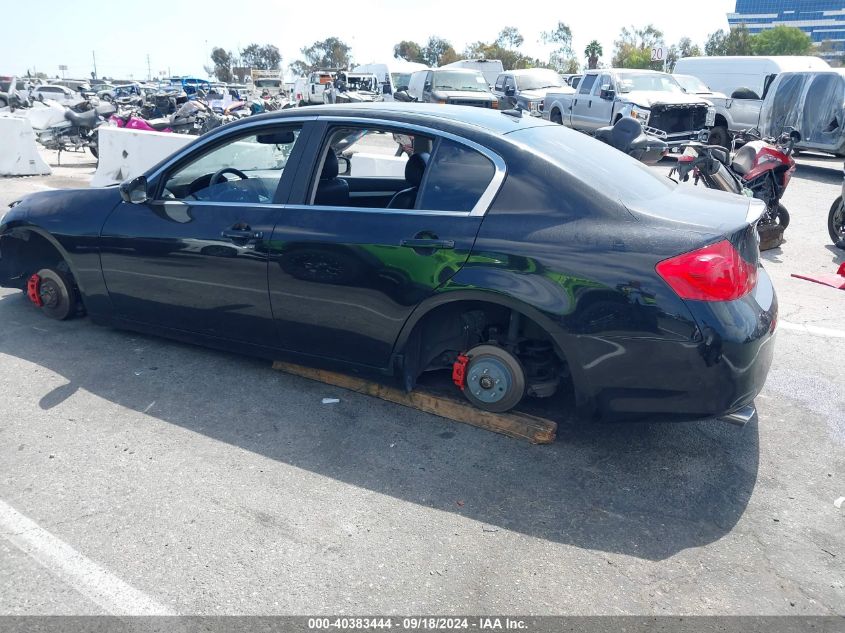
<svg viewBox="0 0 845 633"><path fill-rule="evenodd" d="M270 249L281 347L386 367L413 309L466 261L480 216L287 206ZM414 248L412 239L441 248Z"/></svg>

